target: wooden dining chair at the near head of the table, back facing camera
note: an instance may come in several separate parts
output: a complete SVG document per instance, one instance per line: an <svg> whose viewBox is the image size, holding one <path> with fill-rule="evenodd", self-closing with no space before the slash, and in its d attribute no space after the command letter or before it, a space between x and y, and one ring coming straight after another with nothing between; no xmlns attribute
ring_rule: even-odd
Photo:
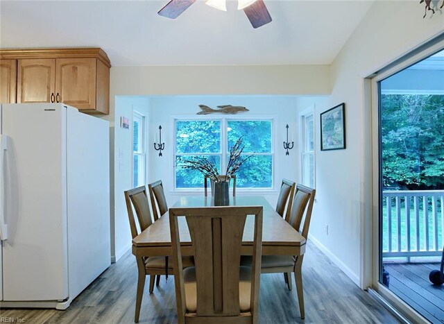
<svg viewBox="0 0 444 324"><path fill-rule="evenodd" d="M170 208L178 323L257 323L262 211L262 206ZM248 222L254 217L253 257L251 266L240 266L247 215ZM185 216L195 260L183 271L180 216Z"/></svg>

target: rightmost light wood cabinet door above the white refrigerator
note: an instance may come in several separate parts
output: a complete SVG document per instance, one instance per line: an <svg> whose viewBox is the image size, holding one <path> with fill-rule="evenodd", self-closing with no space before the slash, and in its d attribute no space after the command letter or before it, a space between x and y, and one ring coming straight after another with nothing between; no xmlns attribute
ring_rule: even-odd
<svg viewBox="0 0 444 324"><path fill-rule="evenodd" d="M78 110L96 108L96 59L56 60L56 98Z"/></svg>

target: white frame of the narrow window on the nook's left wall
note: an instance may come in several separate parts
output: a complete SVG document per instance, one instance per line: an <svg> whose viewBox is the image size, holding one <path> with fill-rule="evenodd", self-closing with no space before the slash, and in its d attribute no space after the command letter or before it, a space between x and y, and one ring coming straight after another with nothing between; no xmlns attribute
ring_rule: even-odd
<svg viewBox="0 0 444 324"><path fill-rule="evenodd" d="M134 183L134 157L138 157L138 170L137 170L137 187L140 187L142 185L145 185L146 182L146 125L145 125L145 116L137 111L133 112L133 127L134 122L139 121L139 129L138 134L139 135L139 149L138 151L134 151L134 129L133 129L133 162L132 162L132 169L133 169L133 176L132 176L132 182L133 187L136 187L136 184Z"/></svg>

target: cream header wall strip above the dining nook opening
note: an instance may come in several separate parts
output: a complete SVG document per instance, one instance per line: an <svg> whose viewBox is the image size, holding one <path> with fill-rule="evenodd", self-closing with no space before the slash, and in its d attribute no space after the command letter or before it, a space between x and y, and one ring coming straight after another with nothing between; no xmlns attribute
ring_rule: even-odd
<svg viewBox="0 0 444 324"><path fill-rule="evenodd" d="M112 67L110 115L114 115L114 96L330 92L328 65Z"/></svg>

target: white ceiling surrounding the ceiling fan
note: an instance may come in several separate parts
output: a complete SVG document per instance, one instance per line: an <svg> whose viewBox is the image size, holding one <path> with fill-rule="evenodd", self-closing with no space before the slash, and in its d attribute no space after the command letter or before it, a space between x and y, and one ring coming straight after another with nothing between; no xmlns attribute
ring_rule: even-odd
<svg viewBox="0 0 444 324"><path fill-rule="evenodd" d="M0 1L0 47L97 46L113 66L329 65L373 1L264 0L254 29L237 1L198 0L177 19L162 1Z"/></svg>

